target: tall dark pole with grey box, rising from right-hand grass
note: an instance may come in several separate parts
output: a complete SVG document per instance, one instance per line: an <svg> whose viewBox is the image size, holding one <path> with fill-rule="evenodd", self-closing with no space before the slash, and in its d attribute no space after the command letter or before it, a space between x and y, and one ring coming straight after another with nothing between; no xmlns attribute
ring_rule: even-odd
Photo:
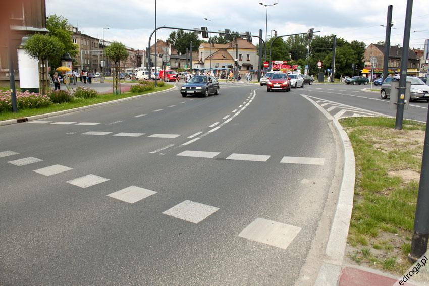
<svg viewBox="0 0 429 286"><path fill-rule="evenodd" d="M402 130L402 120L404 117L404 99L405 99L405 84L407 81L407 66L408 66L408 48L410 46L410 30L411 30L411 14L413 1L407 0L407 12L405 16L404 41L402 44L402 59L401 59L401 74L399 78L399 93L398 103L396 108L395 129ZM427 219L427 218L426 218Z"/></svg>

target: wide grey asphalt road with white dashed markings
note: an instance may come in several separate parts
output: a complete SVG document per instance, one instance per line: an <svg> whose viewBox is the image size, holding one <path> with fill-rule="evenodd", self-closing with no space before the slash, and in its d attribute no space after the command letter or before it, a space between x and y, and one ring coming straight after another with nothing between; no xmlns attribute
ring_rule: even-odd
<svg viewBox="0 0 429 286"><path fill-rule="evenodd" d="M300 94L385 104L340 88L175 89L0 127L0 284L312 284L342 157Z"/></svg>

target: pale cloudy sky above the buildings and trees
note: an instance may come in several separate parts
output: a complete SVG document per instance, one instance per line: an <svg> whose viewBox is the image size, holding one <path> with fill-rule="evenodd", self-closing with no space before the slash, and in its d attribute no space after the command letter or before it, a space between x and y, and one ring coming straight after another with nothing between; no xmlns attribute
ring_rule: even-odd
<svg viewBox="0 0 429 286"><path fill-rule="evenodd" d="M230 29L257 35L262 29L265 37L266 8L259 2L157 0L157 26L209 28L210 22L203 19L208 18L212 20L212 31ZM380 25L386 25L387 7L392 4L391 44L402 45L406 0L263 1L264 4L275 2L278 4L268 11L268 36L271 30L284 35L314 28L321 31L320 35L336 34L348 41L359 40L366 44L385 40L386 30ZM144 49L155 26L155 0L74 0L69 4L62 0L46 0L46 14L62 15L82 33L93 37L102 38L102 28L111 27L104 31L105 40ZM157 38L165 40L170 32L159 30ZM429 38L429 2L414 0L410 47L423 48L426 38Z"/></svg>

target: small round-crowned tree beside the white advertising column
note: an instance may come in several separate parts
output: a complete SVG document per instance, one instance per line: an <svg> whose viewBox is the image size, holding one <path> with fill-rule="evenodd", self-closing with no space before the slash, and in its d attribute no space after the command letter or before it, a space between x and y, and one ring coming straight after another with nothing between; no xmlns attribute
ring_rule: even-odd
<svg viewBox="0 0 429 286"><path fill-rule="evenodd" d="M42 94L45 94L45 62L48 58L60 58L64 44L57 37L35 34L25 42L24 50L42 63Z"/></svg>

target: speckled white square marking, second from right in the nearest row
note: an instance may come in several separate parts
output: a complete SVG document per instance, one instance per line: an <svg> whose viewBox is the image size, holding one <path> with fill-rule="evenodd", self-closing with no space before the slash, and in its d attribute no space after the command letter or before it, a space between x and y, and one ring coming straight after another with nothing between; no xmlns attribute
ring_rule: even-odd
<svg viewBox="0 0 429 286"><path fill-rule="evenodd" d="M218 210L217 207L186 200L166 210L163 214L198 223Z"/></svg>

